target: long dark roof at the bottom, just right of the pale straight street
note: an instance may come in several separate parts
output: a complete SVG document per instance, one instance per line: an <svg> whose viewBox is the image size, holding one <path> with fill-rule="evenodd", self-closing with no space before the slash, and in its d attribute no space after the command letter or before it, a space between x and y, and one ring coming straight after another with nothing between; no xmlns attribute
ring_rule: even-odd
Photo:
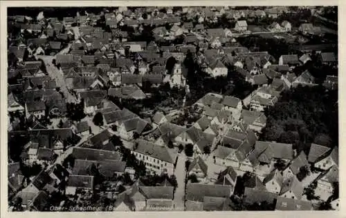
<svg viewBox="0 0 346 218"><path fill-rule="evenodd" d="M188 184L186 185L185 199L203 201L204 197L230 197L231 186Z"/></svg>

